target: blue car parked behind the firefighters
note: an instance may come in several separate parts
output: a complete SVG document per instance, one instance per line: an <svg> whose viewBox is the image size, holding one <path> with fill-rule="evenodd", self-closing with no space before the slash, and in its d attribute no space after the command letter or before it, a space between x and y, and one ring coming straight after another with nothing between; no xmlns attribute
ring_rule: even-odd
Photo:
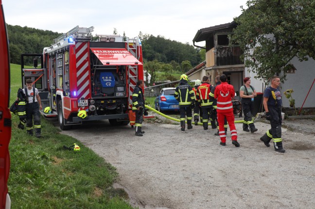
<svg viewBox="0 0 315 209"><path fill-rule="evenodd" d="M157 111L179 111L178 101L174 97L175 88L162 88L155 99Z"/></svg>

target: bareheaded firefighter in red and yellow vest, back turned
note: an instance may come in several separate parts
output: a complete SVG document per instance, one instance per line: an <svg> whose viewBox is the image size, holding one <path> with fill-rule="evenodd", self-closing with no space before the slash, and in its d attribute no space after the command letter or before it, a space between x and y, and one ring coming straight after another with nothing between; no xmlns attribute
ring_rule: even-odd
<svg viewBox="0 0 315 209"><path fill-rule="evenodd" d="M208 121L211 116L210 122L212 129L216 129L215 117L211 114L212 112L212 101L210 100L210 92L212 86L209 83L209 77L202 77L202 84L197 89L197 100L200 101L202 109L202 125L204 130L208 129Z"/></svg>

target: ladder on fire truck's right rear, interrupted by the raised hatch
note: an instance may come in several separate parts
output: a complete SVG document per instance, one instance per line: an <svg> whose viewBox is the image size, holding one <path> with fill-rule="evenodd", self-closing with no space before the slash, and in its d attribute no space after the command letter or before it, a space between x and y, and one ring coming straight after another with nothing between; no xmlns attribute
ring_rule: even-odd
<svg viewBox="0 0 315 209"><path fill-rule="evenodd" d="M138 60L140 55L138 54L137 45L139 44L138 37L136 38L127 38L127 50ZM128 76L129 76L129 107L132 108L132 93L135 87L137 86L138 81L138 65L129 65L128 66Z"/></svg>

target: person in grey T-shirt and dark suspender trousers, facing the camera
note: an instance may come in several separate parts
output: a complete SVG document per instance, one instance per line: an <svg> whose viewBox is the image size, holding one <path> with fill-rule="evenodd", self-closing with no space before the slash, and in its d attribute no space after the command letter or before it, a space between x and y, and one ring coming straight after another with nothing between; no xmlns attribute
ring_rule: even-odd
<svg viewBox="0 0 315 209"><path fill-rule="evenodd" d="M254 97L257 96L256 90L250 85L250 78L244 78L244 86L240 89L241 104L244 113L243 130L251 133L256 132L255 124L252 120L254 109ZM249 129L248 129L249 127Z"/></svg>

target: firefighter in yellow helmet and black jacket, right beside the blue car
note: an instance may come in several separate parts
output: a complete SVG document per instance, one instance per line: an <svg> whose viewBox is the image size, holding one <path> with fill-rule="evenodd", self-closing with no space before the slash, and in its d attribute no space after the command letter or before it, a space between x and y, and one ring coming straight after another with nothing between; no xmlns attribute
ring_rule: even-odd
<svg viewBox="0 0 315 209"><path fill-rule="evenodd" d="M195 106L195 96L192 87L188 84L188 77L180 76L179 85L175 89L175 99L179 102L180 127L185 130L185 114L187 114L187 129L192 129L192 108Z"/></svg>

